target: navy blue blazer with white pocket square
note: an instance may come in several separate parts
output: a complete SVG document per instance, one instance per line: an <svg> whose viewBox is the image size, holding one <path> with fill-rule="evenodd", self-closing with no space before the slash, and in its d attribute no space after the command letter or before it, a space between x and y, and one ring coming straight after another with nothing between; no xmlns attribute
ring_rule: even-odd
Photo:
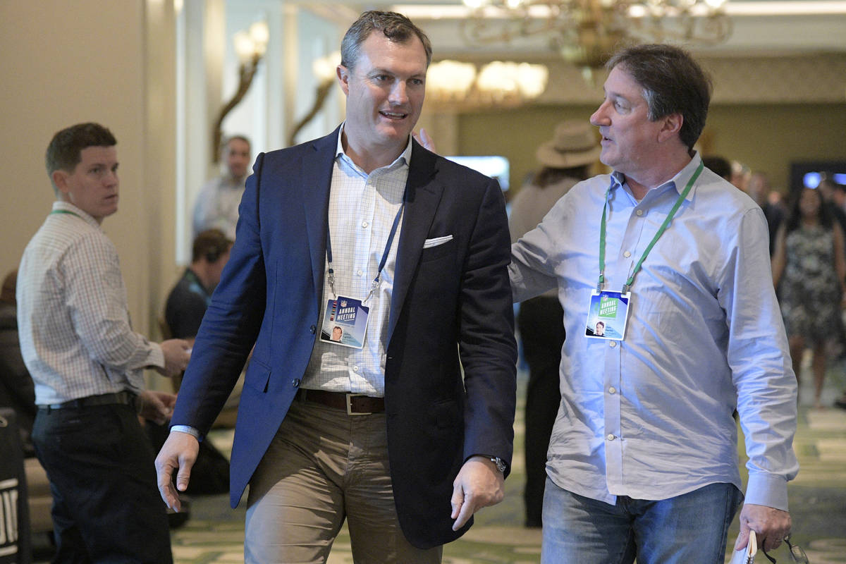
<svg viewBox="0 0 846 564"><path fill-rule="evenodd" d="M256 158L237 236L206 310L172 424L205 435L250 349L232 450L235 507L288 412L319 333L338 129ZM423 249L427 238L452 235ZM458 538L453 480L514 439L514 315L495 180L414 141L388 321L385 408L398 518L413 545ZM462 372L463 369L463 372Z"/></svg>

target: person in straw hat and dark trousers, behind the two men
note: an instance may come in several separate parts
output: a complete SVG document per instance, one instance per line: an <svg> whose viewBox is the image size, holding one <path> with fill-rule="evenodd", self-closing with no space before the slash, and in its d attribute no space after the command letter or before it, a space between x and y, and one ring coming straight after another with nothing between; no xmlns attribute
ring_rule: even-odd
<svg viewBox="0 0 846 564"><path fill-rule="evenodd" d="M537 148L542 167L514 198L508 231L511 242L534 229L568 190L590 176L599 159L596 133L587 120L569 119L555 127L552 140ZM547 480L547 446L558 413L558 364L564 342L563 310L558 294L550 290L520 304L517 315L523 355L529 364L525 405L526 482L525 525L541 526L544 483Z"/></svg>

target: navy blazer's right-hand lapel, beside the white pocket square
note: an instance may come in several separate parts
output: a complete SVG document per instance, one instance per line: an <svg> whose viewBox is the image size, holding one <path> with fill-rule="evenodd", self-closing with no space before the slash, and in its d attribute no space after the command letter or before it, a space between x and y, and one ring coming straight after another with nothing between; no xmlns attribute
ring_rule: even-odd
<svg viewBox="0 0 846 564"><path fill-rule="evenodd" d="M443 194L443 184L436 178L436 156L424 150L417 141L412 142L409 179L405 187L403 229L399 234L397 266L391 296L391 314L387 324L387 342L391 341L393 328L402 311L409 292L423 243L435 218L437 205Z"/></svg>

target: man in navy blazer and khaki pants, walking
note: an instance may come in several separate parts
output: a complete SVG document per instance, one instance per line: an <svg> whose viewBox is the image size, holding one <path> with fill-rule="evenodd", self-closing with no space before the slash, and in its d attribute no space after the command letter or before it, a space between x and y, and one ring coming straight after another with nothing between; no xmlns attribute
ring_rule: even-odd
<svg viewBox="0 0 846 564"><path fill-rule="evenodd" d="M362 14L338 66L344 123L259 155L247 180L156 465L178 510L255 344L230 491L234 507L250 484L248 562L325 561L344 518L357 562L439 562L502 500L516 360L503 194L412 139L430 60L409 19Z"/></svg>

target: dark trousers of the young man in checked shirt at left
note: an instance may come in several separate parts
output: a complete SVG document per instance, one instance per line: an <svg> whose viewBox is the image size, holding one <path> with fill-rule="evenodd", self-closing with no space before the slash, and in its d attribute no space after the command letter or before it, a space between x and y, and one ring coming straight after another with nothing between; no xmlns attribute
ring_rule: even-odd
<svg viewBox="0 0 846 564"><path fill-rule="evenodd" d="M32 440L52 490L53 562L173 562L154 454L133 408L40 408Z"/></svg>

